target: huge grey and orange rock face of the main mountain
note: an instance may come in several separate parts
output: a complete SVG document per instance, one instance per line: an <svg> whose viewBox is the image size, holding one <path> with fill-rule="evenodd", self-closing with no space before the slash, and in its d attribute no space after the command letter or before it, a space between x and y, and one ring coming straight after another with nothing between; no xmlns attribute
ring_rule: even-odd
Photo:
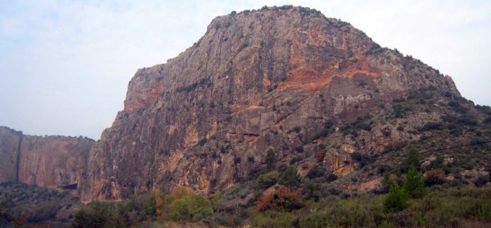
<svg viewBox="0 0 491 228"><path fill-rule="evenodd" d="M82 200L225 189L262 166L267 149L288 156L326 123L354 121L422 86L458 95L450 77L318 11L215 18L177 58L137 71L125 108L90 151ZM385 146L375 139L364 149Z"/></svg>

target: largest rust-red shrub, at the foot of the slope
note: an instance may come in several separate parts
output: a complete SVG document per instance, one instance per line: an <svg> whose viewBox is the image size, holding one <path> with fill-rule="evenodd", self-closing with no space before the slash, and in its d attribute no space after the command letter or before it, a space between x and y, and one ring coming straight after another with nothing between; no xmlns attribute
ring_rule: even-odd
<svg viewBox="0 0 491 228"><path fill-rule="evenodd" d="M302 208L302 203L300 203L300 191L291 190L287 187L280 187L274 192L263 196L257 203L257 208L261 211L291 211Z"/></svg>

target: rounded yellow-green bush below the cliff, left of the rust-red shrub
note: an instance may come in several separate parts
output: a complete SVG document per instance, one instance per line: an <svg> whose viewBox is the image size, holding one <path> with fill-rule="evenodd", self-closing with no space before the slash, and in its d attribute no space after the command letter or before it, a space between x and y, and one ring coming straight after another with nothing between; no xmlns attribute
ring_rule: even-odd
<svg viewBox="0 0 491 228"><path fill-rule="evenodd" d="M198 222L211 217L213 208L205 197L189 194L170 203L169 213L175 221Z"/></svg>

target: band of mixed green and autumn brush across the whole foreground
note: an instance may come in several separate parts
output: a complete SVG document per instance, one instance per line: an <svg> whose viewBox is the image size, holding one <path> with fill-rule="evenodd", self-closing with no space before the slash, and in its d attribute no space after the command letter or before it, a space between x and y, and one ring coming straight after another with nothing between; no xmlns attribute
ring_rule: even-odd
<svg viewBox="0 0 491 228"><path fill-rule="evenodd" d="M278 189L281 189L278 188ZM269 208L227 210L220 196L180 192L152 194L128 202L93 202L74 215L74 227L489 227L491 186L434 186L408 199L401 210L387 208L389 194L329 195L318 201L295 193L275 193ZM285 190L283 190L285 191ZM288 190L286 190L288 191ZM293 191L295 192L295 191Z"/></svg>

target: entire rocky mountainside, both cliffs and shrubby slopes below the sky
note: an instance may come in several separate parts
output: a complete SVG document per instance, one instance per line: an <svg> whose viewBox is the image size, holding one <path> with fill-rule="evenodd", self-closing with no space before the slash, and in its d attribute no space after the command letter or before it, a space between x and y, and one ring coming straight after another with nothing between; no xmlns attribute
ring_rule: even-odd
<svg viewBox="0 0 491 228"><path fill-rule="evenodd" d="M44 218L74 227L485 227L489 142L489 106L349 23L234 11L137 70L99 141L0 128L0 215L47 204Z"/></svg>

